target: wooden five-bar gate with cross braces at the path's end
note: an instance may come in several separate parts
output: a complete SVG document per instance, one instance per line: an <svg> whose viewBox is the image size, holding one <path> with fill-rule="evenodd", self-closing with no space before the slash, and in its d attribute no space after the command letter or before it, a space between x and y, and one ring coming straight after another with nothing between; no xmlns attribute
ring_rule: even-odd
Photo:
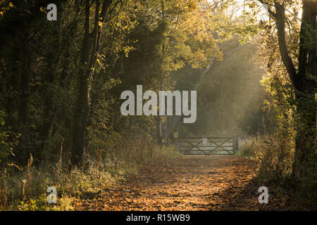
<svg viewBox="0 0 317 225"><path fill-rule="evenodd" d="M178 143L184 155L233 155L239 148L238 136L186 137Z"/></svg>

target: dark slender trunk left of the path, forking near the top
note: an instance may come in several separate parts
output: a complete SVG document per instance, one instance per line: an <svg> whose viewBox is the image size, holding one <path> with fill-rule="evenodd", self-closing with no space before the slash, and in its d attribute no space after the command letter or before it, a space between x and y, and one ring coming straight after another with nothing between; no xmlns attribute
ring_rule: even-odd
<svg viewBox="0 0 317 225"><path fill-rule="evenodd" d="M99 22L104 23L106 20L106 13L112 4L112 0L104 0L101 11L99 11L99 0L96 0L95 4L94 29L90 32L91 4L89 0L85 1L85 36L79 68L79 94L74 110L72 167L80 167L84 159L89 118L88 87L99 51L99 41L101 37L101 26L99 26Z"/></svg>

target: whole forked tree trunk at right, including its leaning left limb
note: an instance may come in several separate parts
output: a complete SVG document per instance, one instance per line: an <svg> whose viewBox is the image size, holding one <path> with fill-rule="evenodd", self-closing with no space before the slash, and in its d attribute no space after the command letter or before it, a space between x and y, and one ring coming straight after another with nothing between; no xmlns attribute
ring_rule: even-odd
<svg viewBox="0 0 317 225"><path fill-rule="evenodd" d="M263 0L259 0L265 3ZM304 191L316 193L316 0L303 0L302 24L299 34L298 70L287 49L285 38L285 8L274 1L275 13L268 7L278 27L278 45L282 62L287 69L295 91L297 111L295 112L295 157L294 181ZM307 182L309 181L309 182ZM308 184L310 183L310 184ZM314 183L314 184L313 184ZM313 187L314 186L314 187Z"/></svg>

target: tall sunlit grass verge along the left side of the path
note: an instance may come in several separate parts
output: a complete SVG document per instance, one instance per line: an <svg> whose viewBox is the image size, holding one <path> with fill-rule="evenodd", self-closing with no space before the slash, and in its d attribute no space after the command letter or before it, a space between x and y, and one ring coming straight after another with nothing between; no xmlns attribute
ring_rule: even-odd
<svg viewBox="0 0 317 225"><path fill-rule="evenodd" d="M62 157L54 165L41 167L32 165L32 155L25 168L8 165L0 176L0 209L74 210L76 200L96 198L114 182L137 173L139 165L180 155L173 147L158 148L147 139L131 141L120 136L111 142L95 142L89 149L82 168L71 171ZM49 186L57 189L57 205L46 201Z"/></svg>

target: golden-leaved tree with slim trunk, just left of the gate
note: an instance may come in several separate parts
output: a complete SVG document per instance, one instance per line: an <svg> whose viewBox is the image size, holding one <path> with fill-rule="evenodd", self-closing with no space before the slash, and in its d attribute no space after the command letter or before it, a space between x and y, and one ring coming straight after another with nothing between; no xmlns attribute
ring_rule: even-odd
<svg viewBox="0 0 317 225"><path fill-rule="evenodd" d="M155 46L156 58L151 63L156 81L152 89L173 89L170 73L185 65L202 68L209 65L212 58L220 60L218 43L229 36L222 32L228 18L213 13L208 3L151 0L142 4L139 13L147 18L151 29L161 33ZM159 146L163 143L163 119L160 115L150 119L154 120L151 124L154 124Z"/></svg>

